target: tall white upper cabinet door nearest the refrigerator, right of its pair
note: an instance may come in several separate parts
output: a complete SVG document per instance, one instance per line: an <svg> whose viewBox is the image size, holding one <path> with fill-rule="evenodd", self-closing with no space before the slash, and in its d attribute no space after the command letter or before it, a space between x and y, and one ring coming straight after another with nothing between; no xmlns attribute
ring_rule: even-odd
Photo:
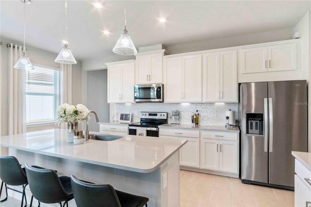
<svg viewBox="0 0 311 207"><path fill-rule="evenodd" d="M237 80L237 51L220 53L220 101L239 101Z"/></svg>

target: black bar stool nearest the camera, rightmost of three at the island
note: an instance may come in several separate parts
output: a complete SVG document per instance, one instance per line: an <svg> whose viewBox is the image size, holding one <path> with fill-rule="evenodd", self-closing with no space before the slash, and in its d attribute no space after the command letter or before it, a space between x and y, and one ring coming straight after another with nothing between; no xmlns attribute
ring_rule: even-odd
<svg viewBox="0 0 311 207"><path fill-rule="evenodd" d="M78 207L147 207L148 198L115 190L109 184L92 184L70 176Z"/></svg>

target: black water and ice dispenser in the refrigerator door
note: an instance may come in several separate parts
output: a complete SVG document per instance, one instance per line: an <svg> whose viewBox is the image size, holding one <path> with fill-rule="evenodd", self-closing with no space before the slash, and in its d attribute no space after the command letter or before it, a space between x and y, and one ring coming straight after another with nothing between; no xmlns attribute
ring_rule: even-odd
<svg viewBox="0 0 311 207"><path fill-rule="evenodd" d="M263 135L263 114L246 113L246 134Z"/></svg>

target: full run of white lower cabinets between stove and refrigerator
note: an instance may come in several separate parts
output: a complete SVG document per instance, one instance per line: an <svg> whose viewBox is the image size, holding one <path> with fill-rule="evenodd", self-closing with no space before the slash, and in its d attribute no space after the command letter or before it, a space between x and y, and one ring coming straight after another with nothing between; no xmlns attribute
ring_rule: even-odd
<svg viewBox="0 0 311 207"><path fill-rule="evenodd" d="M181 166L239 174L239 133L159 128L160 138L184 138Z"/></svg>

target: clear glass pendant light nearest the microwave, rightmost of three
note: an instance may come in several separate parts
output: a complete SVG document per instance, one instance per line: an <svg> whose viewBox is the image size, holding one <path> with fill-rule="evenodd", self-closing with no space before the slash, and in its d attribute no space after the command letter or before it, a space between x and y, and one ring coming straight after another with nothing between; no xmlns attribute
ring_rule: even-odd
<svg viewBox="0 0 311 207"><path fill-rule="evenodd" d="M131 37L128 35L126 30L126 12L124 8L124 30L116 43L115 47L112 49L113 52L121 55L133 55L137 53L137 50L131 40Z"/></svg>

